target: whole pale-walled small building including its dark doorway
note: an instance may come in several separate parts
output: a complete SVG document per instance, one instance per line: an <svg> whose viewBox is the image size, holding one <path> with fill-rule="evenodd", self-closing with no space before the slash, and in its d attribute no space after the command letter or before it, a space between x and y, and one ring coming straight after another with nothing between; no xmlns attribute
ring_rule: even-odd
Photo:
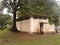
<svg viewBox="0 0 60 45"><path fill-rule="evenodd" d="M34 18L23 19L16 22L18 31L28 33L55 33L55 25L49 23L49 19L46 18Z"/></svg>

